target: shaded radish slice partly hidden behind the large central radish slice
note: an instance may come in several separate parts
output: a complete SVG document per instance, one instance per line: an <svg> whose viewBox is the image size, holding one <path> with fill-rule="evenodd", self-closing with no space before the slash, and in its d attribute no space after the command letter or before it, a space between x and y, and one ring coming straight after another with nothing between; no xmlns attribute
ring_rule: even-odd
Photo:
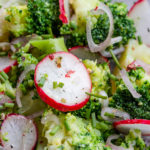
<svg viewBox="0 0 150 150"><path fill-rule="evenodd" d="M83 46L72 47L68 50L70 53L74 54L78 58L85 60L97 60L97 63L108 62L107 58L100 55L100 53L92 53L90 49Z"/></svg>

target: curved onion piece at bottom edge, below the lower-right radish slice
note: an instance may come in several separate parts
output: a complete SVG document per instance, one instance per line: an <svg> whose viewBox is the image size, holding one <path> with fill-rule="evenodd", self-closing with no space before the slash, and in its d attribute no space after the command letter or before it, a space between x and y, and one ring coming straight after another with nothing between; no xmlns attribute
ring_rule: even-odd
<svg viewBox="0 0 150 150"><path fill-rule="evenodd" d="M119 135L111 135L108 137L107 141L106 141L106 145L110 146L112 148L112 150L134 150L133 146L130 146L130 148L124 148L122 146L117 146L114 145L111 141L118 139L120 136Z"/></svg>

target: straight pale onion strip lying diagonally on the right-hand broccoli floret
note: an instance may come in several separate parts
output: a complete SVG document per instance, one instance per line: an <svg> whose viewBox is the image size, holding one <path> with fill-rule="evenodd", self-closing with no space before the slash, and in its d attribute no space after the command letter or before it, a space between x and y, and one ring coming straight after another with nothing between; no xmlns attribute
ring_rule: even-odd
<svg viewBox="0 0 150 150"><path fill-rule="evenodd" d="M131 81L128 78L128 75L127 75L127 72L126 72L125 69L122 69L120 71L120 75L121 75L121 78L122 78L124 84L126 85L126 87L128 88L128 90L130 91L130 93L132 94L132 96L134 98L140 98L141 95L134 89Z"/></svg>

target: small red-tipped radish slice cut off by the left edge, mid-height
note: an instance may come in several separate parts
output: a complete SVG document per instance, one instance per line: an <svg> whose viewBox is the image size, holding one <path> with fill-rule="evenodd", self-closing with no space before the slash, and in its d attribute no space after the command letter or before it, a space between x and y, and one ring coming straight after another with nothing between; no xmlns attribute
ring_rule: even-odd
<svg viewBox="0 0 150 150"><path fill-rule="evenodd" d="M17 61L11 60L8 56L0 57L0 71L8 73L12 66L16 65Z"/></svg>

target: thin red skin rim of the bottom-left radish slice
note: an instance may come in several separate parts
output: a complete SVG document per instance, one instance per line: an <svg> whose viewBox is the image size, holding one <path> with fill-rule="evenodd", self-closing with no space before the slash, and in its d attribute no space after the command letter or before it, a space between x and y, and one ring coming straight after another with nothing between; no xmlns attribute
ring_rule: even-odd
<svg viewBox="0 0 150 150"><path fill-rule="evenodd" d="M19 115L19 114L9 114L9 115L7 115L6 117L5 117L5 120L2 122L2 124L1 124L1 130L0 130L0 132L2 133L2 127L3 126L5 126L4 124L5 124L5 121L9 118L9 117L13 117L13 116L18 116L18 117L21 117L21 118L23 118L23 119L27 119L26 117L24 117L24 116L22 116L22 115ZM29 119L27 119L27 120L29 120ZM37 129L37 127L36 127L36 125L34 124L34 122L32 122L33 123L33 125L34 125L34 128L35 128L35 131L36 131L36 135L35 135L35 141L34 141L34 143L33 143L33 146L32 146L32 148L31 149L28 149L28 150L34 150L35 149L35 147L36 147L36 142L37 142L37 139L38 139L38 129ZM25 136L25 135L23 135L23 136ZM33 140L33 139L32 139ZM1 142L1 144L2 144L2 146L4 147L4 149L5 150L10 150L10 148L8 148L8 147L6 147L5 148L5 144L4 144L4 141L3 141L3 139L1 138L0 139L0 142ZM12 149L12 148L11 148ZM13 149L12 149L13 150Z"/></svg>

